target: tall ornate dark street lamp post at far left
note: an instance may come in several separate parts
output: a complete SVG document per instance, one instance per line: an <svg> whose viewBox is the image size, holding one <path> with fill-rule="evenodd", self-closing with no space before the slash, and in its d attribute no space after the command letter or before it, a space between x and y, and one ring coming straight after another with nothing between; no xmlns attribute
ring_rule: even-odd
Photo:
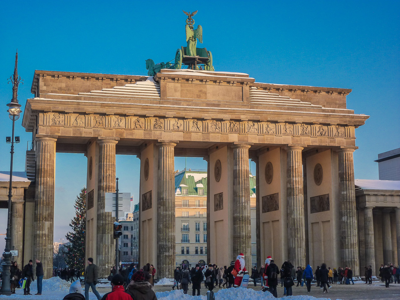
<svg viewBox="0 0 400 300"><path fill-rule="evenodd" d="M11 198L12 198L12 162L14 158L14 125L15 121L20 118L21 104L18 103L18 84L23 80L18 77L18 52L15 54L14 75L10 76L8 83L12 82L12 99L7 104L8 116L12 120L12 138L11 138L11 162L10 162L10 186L8 188L8 214L7 214L7 232L6 232L6 247L4 248L3 266L3 284L0 289L0 295L11 295L10 288L10 268L11 268ZM23 84L23 82L22 82Z"/></svg>

